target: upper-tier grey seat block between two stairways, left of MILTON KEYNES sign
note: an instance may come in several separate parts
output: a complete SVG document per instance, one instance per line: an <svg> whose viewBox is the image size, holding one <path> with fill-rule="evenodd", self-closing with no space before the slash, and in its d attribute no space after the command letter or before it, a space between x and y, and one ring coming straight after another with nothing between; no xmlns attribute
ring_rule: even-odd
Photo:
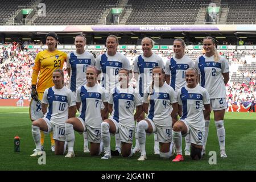
<svg viewBox="0 0 256 182"><path fill-rule="evenodd" d="M44 0L42 3L46 4L47 14L46 17L38 16L34 21L36 25L93 24L98 22L106 7L115 7L118 0L87 0L86 3L79 0Z"/></svg>

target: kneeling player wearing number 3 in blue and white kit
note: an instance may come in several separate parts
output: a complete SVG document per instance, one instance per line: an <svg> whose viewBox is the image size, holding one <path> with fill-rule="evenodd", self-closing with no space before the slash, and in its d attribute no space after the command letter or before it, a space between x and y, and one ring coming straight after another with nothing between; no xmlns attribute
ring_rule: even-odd
<svg viewBox="0 0 256 182"><path fill-rule="evenodd" d="M101 159L111 159L110 133L119 134L122 143L121 154L124 157L133 155L134 121L143 111L141 97L135 89L129 86L130 71L125 68L119 70L119 85L109 96L108 109L112 113L109 119L101 123L101 137L104 143L105 155ZM134 109L137 111L134 114Z"/></svg>

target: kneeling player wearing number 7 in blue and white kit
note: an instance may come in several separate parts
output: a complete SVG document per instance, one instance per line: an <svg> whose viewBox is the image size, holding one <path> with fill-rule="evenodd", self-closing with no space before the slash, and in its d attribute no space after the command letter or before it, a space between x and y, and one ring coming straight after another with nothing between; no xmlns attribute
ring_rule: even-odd
<svg viewBox="0 0 256 182"><path fill-rule="evenodd" d="M97 69L90 65L86 68L87 83L77 89L76 106L80 108L77 118L69 118L65 123L65 136L68 142L68 154L65 158L73 158L75 134L74 130L83 133L85 130L90 142L90 155L100 155L101 143L101 104L105 105L104 111L108 112L105 90L97 84ZM80 107L81 105L81 107Z"/></svg>

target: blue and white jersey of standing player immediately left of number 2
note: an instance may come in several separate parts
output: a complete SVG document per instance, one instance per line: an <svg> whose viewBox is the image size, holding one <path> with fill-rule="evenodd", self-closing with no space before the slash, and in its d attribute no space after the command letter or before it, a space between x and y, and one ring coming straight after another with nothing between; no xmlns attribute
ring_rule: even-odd
<svg viewBox="0 0 256 182"><path fill-rule="evenodd" d="M181 59L172 57L166 62L166 75L170 75L170 85L176 92L187 84L185 81L186 70L194 67L194 62L185 55Z"/></svg>

